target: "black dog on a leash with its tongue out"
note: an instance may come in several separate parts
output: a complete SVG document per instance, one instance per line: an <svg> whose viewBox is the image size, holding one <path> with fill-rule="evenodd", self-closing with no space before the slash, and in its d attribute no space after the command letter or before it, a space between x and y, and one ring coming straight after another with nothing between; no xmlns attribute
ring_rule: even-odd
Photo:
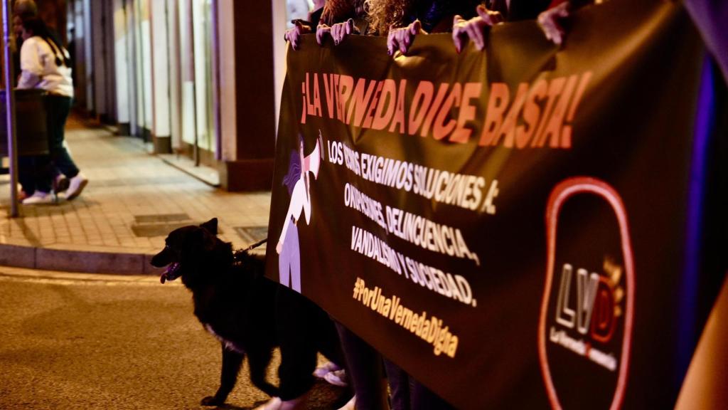
<svg viewBox="0 0 728 410"><path fill-rule="evenodd" d="M218 406L225 403L245 355L248 356L250 381L266 394L280 396L278 387L266 381L266 368L273 349L278 346L281 348L281 387L287 384L287 390L294 395L305 393L313 384L309 376L315 368L317 351L334 363L343 363L333 322L303 296L266 279L262 256L233 252L232 244L218 239L217 227L218 220L213 218L199 226L175 229L165 239L165 249L151 259L153 266L168 266L160 278L162 283L182 277L183 284L192 292L195 316L221 341L220 387L215 395L203 398L202 404ZM285 298L281 297L282 293ZM314 306L312 309L317 311L280 312L280 301L290 301L290 298L296 303ZM284 306L284 309L288 308L290 306ZM302 312L309 312L305 313L309 317L301 318ZM303 333L285 331L285 327L282 331L281 322L288 320L281 320L281 313L284 318L293 314L300 319L296 322L308 322L310 326ZM310 317L312 315L316 317ZM292 334L295 336L290 336ZM317 340L310 340L314 336ZM289 340L301 337L309 340ZM326 340L318 340L321 338ZM284 350L286 346L290 349ZM312 349L301 353L300 346Z"/></svg>

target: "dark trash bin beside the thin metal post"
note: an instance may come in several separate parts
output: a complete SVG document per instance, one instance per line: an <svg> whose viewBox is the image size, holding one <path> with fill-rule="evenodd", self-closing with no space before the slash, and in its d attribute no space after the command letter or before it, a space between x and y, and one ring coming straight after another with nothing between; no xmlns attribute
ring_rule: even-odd
<svg viewBox="0 0 728 410"><path fill-rule="evenodd" d="M44 90L15 90L17 155L48 153L46 96ZM0 90L0 156L7 155L7 108L5 90Z"/></svg>

